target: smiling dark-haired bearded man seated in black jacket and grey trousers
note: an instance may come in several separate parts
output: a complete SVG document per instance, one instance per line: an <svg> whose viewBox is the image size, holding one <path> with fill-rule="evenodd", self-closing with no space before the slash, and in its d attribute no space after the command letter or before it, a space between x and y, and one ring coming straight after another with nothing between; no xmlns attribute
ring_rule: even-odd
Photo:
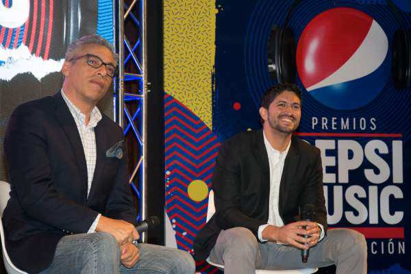
<svg viewBox="0 0 411 274"><path fill-rule="evenodd" d="M228 274L331 264L338 274L366 273L362 234L332 229L325 236L320 151L292 135L301 119L298 86L269 88L260 118L261 130L221 145L212 178L216 213L195 239L195 257L223 264ZM301 221L307 208L315 214ZM308 262L301 249L311 249Z"/></svg>

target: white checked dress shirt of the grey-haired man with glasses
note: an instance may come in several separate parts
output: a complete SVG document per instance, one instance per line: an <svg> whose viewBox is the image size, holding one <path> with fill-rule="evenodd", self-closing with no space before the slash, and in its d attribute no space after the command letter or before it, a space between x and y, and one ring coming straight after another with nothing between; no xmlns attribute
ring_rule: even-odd
<svg viewBox="0 0 411 274"><path fill-rule="evenodd" d="M84 156L86 157L87 164L87 197L90 194L90 188L92 183L92 177L94 176L94 171L97 161L97 147L96 147L96 135L95 127L97 123L101 120L101 112L97 107L93 108L90 113L90 121L86 125L86 115L84 115L79 108L77 108L70 99L64 94L64 90L61 91L62 97L66 102L71 115L73 115L75 124L77 125L77 130L79 131L80 139L82 140L82 145L84 149ZM95 232L97 223L99 223L101 214L97 215L97 218L92 223L88 233Z"/></svg>

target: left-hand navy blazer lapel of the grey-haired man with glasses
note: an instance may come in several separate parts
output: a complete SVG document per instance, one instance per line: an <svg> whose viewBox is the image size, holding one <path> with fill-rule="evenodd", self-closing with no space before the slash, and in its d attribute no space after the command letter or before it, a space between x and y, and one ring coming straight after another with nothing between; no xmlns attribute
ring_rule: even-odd
<svg viewBox="0 0 411 274"><path fill-rule="evenodd" d="M77 125L73 119L73 115L66 105L62 95L58 92L54 95L54 99L57 105L55 110L55 117L60 122L64 133L70 141L71 149L75 155L75 160L77 162L77 167L79 169L79 174L82 180L82 193L84 194L84 201L87 198L87 164L86 156L84 155L84 149L82 145L82 139L80 138Z"/></svg>

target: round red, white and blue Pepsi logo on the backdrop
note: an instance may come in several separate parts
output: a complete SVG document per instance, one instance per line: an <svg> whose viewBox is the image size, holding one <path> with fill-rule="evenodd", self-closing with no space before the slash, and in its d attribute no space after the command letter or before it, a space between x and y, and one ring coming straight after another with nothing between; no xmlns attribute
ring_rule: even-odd
<svg viewBox="0 0 411 274"><path fill-rule="evenodd" d="M297 72L317 101L338 110L370 103L390 76L388 38L371 16L333 8L315 16L297 45Z"/></svg>

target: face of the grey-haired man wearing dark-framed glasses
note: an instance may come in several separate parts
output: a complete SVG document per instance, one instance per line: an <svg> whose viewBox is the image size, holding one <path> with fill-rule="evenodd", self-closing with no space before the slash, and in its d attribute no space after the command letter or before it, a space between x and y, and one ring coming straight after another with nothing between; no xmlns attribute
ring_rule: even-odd
<svg viewBox="0 0 411 274"><path fill-rule="evenodd" d="M79 58L86 54L95 55L104 63L115 66L114 56L106 47L92 44L83 45L75 52L73 58ZM96 104L110 88L112 77L107 75L104 64L96 69L88 65L87 60L88 58L84 57L64 62L62 69L65 76L64 85L71 89L78 99Z"/></svg>

